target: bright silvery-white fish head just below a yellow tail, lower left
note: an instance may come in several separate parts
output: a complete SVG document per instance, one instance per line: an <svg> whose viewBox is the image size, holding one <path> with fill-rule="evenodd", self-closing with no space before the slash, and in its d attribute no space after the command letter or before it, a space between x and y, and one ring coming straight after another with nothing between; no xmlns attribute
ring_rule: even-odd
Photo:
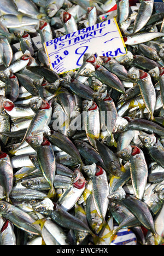
<svg viewBox="0 0 164 256"><path fill-rule="evenodd" d="M46 197L43 201L33 205L32 208L36 212L49 215L51 211L54 211L54 203L48 197Z"/></svg>

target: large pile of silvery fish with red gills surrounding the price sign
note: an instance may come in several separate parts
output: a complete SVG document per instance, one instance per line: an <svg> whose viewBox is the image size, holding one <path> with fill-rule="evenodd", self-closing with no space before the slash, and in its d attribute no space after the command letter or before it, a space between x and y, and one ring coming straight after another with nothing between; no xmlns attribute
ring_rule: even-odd
<svg viewBox="0 0 164 256"><path fill-rule="evenodd" d="M163 244L164 13L116 1L127 54L86 53L77 71L44 50L109 2L0 6L1 245Z"/></svg>

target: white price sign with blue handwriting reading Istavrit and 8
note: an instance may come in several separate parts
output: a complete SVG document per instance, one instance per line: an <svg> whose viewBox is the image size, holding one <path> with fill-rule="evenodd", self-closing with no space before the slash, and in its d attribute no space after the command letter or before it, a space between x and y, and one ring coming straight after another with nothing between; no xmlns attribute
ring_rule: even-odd
<svg viewBox="0 0 164 256"><path fill-rule="evenodd" d="M50 68L62 74L80 68L85 53L119 57L127 53L115 19L66 34L45 43Z"/></svg>

